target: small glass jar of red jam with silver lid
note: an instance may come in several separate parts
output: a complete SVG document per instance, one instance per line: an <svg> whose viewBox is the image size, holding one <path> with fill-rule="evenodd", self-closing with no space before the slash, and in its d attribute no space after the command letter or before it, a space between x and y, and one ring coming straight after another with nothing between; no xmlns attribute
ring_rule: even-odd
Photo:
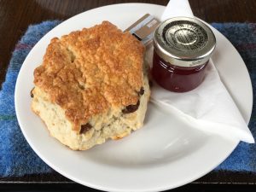
<svg viewBox="0 0 256 192"><path fill-rule="evenodd" d="M194 90L205 77L216 46L212 30L200 20L174 17L154 32L152 76L166 90Z"/></svg>

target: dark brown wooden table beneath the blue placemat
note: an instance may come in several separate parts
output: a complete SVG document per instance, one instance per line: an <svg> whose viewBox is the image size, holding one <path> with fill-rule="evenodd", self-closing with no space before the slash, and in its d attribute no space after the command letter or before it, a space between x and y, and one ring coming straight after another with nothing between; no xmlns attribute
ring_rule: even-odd
<svg viewBox="0 0 256 192"><path fill-rule="evenodd" d="M43 20L65 20L89 9L131 0L0 0L0 86L12 51L27 26ZM166 5L167 0L136 1ZM256 22L256 0L189 0L195 16L207 22ZM0 152L1 153L1 152ZM1 163L1 162L0 162ZM210 172L175 191L256 191L253 173ZM50 175L0 177L0 191L83 191L85 188L55 172Z"/></svg>

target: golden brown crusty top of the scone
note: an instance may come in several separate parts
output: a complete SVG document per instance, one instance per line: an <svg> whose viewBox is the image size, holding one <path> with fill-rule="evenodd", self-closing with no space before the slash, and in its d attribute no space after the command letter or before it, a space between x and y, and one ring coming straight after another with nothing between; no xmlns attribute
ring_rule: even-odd
<svg viewBox="0 0 256 192"><path fill-rule="evenodd" d="M144 47L108 21L53 38L34 84L66 111L74 130L91 116L135 105L143 86Z"/></svg>

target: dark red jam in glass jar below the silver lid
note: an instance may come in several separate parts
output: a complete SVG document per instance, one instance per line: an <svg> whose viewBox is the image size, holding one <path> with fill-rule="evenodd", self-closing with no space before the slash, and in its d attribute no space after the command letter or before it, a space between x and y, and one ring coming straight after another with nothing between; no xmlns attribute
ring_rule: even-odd
<svg viewBox="0 0 256 192"><path fill-rule="evenodd" d="M164 61L154 51L152 76L166 90L185 92L194 90L205 77L207 63L196 67L178 67Z"/></svg>

